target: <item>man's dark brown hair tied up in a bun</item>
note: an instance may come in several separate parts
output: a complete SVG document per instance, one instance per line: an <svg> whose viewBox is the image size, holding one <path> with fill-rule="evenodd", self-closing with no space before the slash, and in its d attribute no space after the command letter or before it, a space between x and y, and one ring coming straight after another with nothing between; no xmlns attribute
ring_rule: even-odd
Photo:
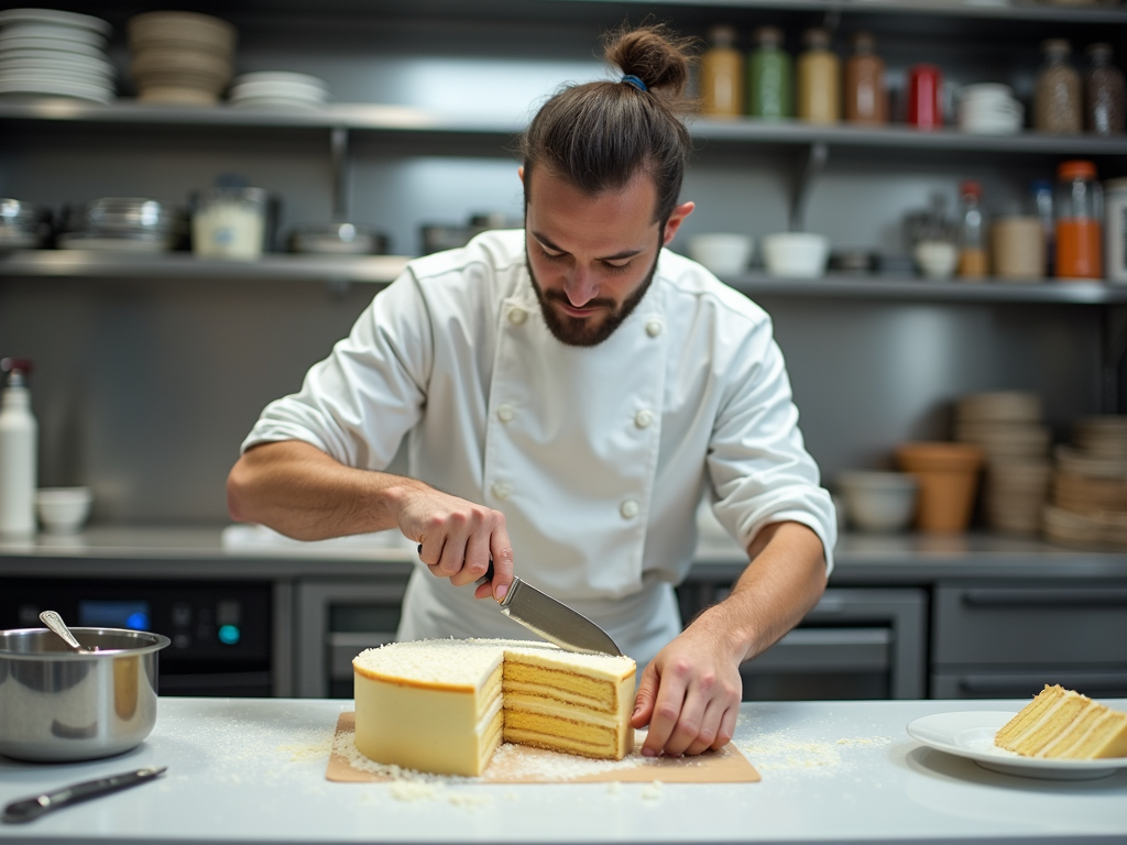
<svg viewBox="0 0 1127 845"><path fill-rule="evenodd" d="M620 28L606 37L606 61L633 81L565 88L541 107L521 140L524 195L544 168L595 195L646 174L657 188L654 215L665 222L677 203L692 139L680 115L689 82L691 41L664 25Z"/></svg>

